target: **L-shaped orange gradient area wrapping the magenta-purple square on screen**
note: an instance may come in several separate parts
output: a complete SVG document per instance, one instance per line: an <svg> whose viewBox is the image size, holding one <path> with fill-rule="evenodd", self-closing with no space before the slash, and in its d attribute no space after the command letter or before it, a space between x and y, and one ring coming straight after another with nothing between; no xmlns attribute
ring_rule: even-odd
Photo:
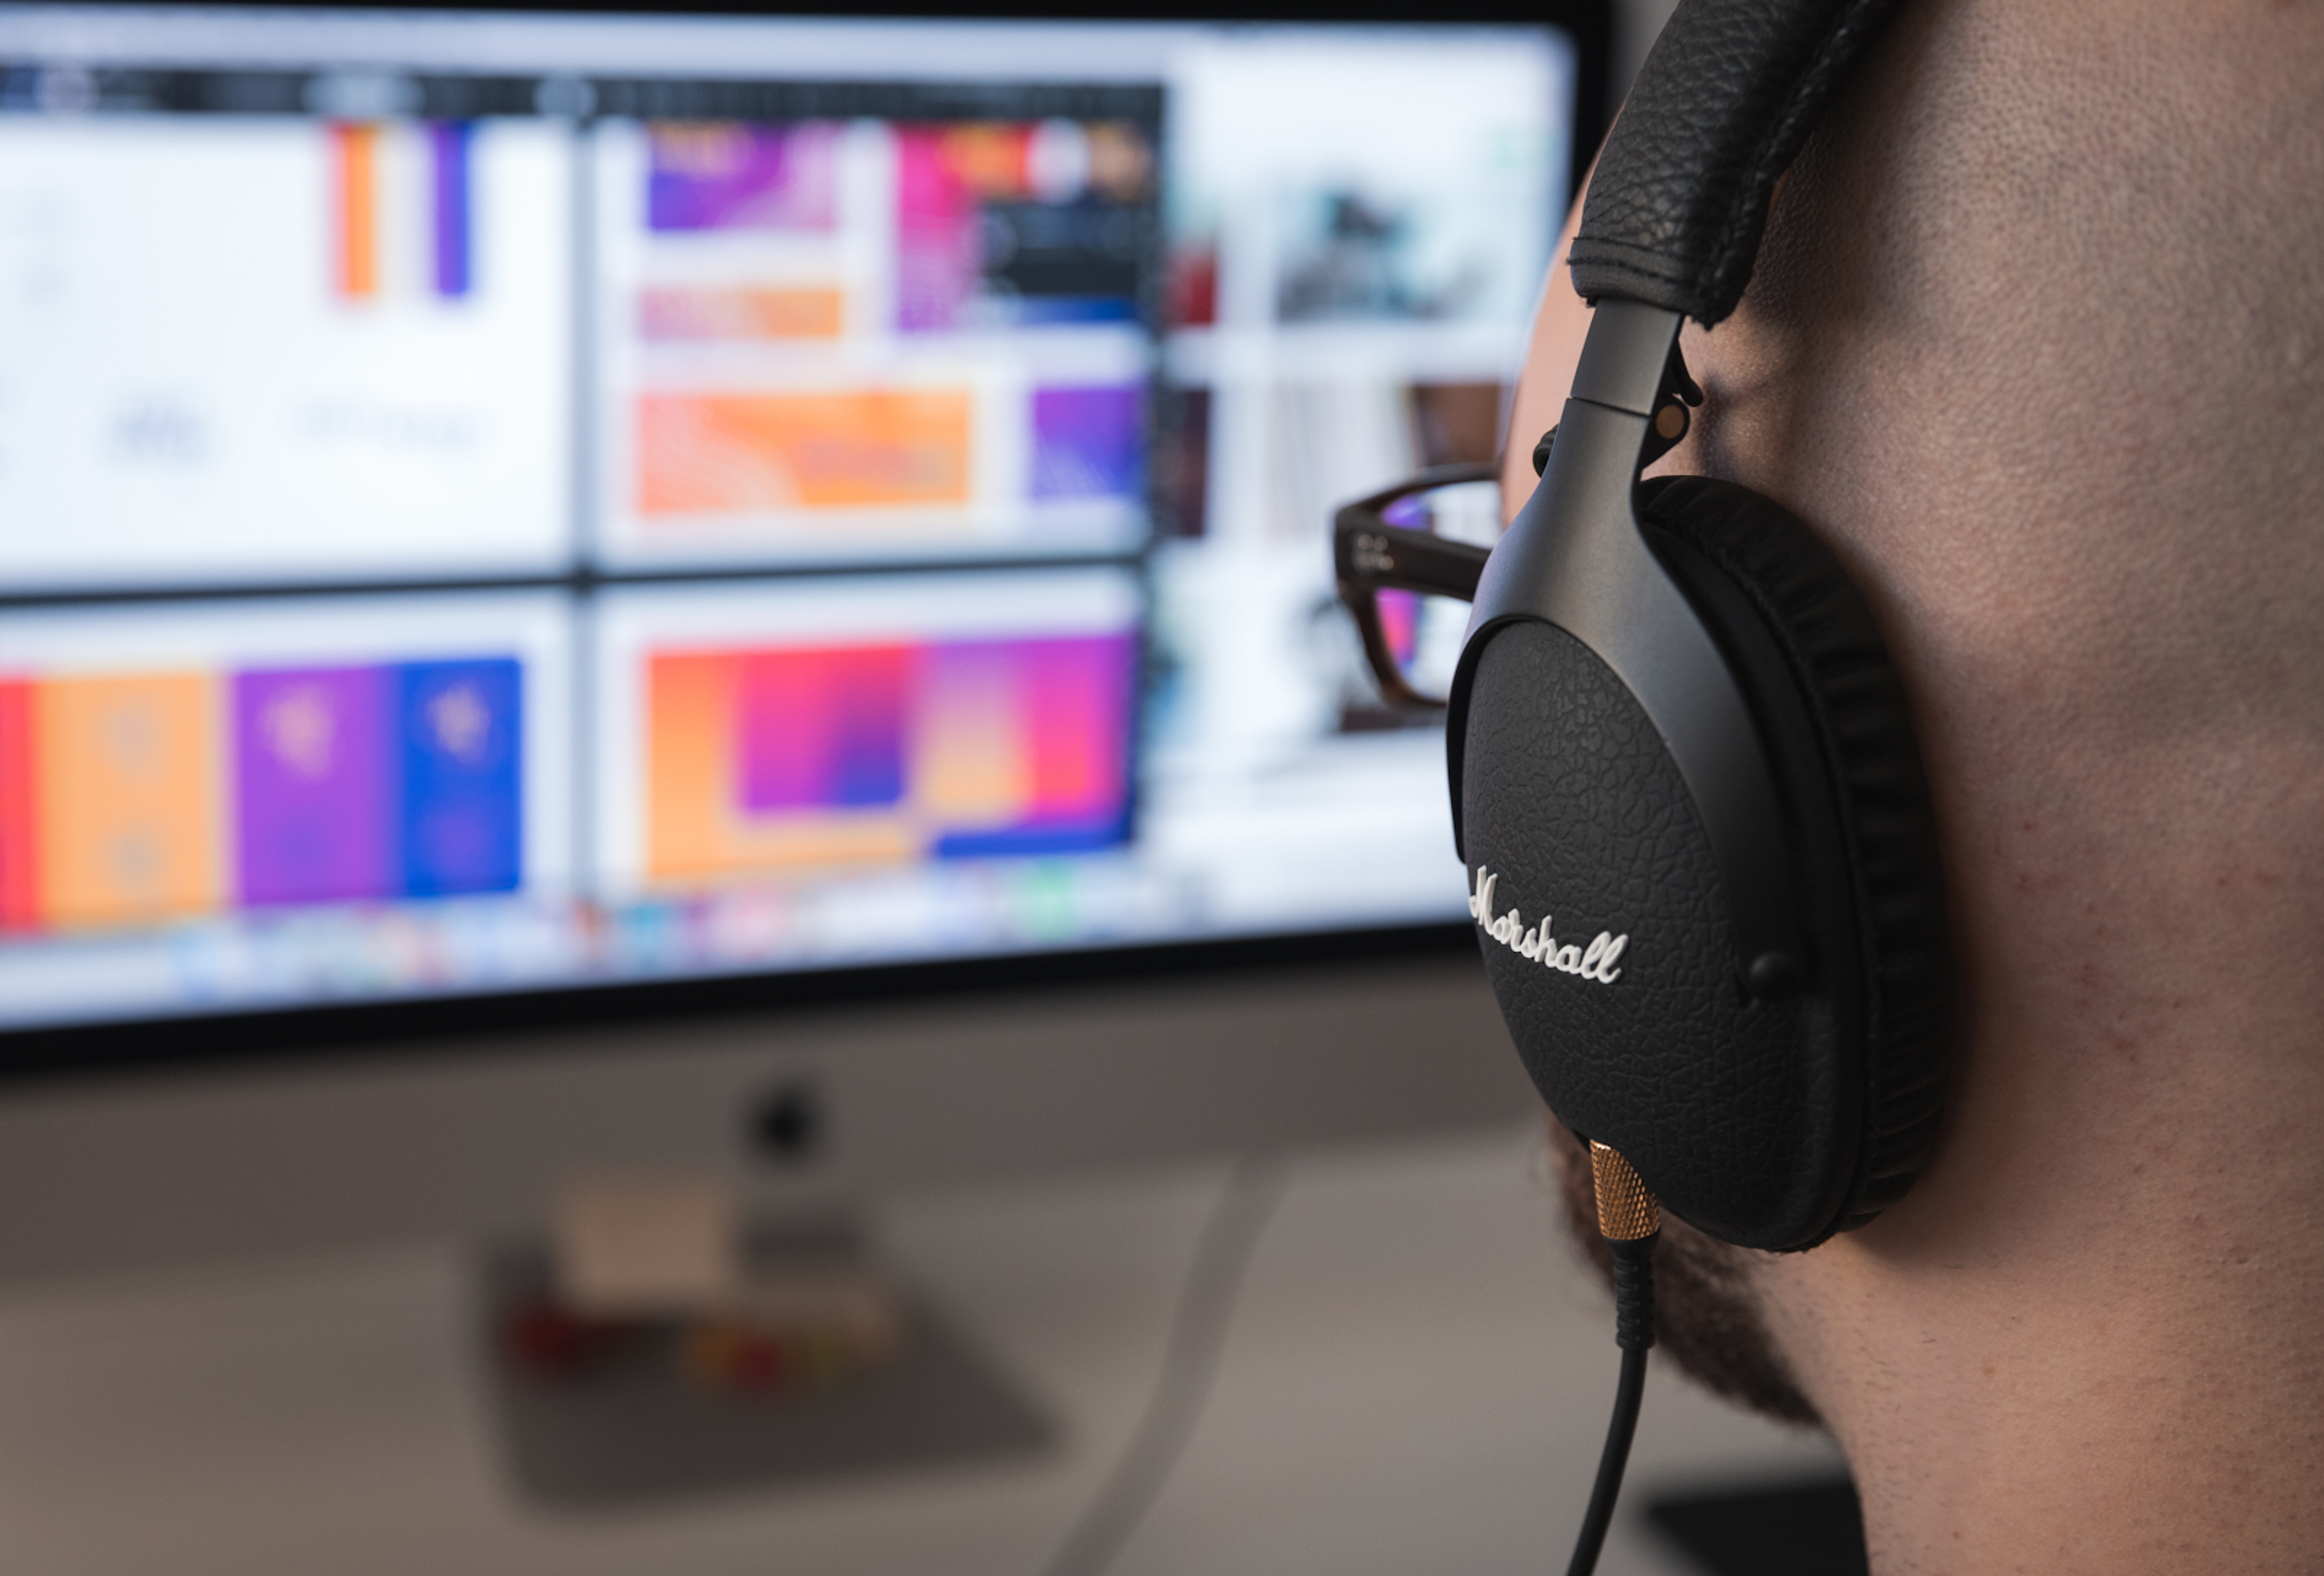
<svg viewBox="0 0 2324 1576"><path fill-rule="evenodd" d="M802 865L885 865L920 851L895 809L737 814L734 714L744 651L667 653L646 662L646 876L693 883Z"/></svg>

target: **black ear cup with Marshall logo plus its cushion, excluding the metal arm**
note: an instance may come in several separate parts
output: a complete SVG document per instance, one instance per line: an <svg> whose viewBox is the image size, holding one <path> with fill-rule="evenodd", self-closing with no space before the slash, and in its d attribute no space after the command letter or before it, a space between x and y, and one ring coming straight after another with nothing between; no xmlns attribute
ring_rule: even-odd
<svg viewBox="0 0 2324 1576"><path fill-rule="evenodd" d="M1518 1055L1573 1132L1713 1237L1813 1248L1901 1197L1936 1132L1950 965L1920 751L1868 609L1799 521L1694 479L1636 504L1776 779L1806 976L1745 986L1669 742L1538 616L1462 653L1469 909Z"/></svg>

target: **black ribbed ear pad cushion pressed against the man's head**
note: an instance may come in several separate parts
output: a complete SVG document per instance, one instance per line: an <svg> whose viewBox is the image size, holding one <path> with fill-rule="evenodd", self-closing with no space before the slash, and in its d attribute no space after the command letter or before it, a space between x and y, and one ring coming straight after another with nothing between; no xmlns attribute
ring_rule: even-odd
<svg viewBox="0 0 2324 1576"><path fill-rule="evenodd" d="M1803 879L1862 1000L1864 1139L1836 1230L1903 1197L1936 1137L1952 1027L1952 948L1920 744L1880 628L1815 532L1750 488L1666 477L1638 488L1645 539L1722 646L1771 739L1794 821L1836 837ZM1829 890L1838 883L1843 890Z"/></svg>

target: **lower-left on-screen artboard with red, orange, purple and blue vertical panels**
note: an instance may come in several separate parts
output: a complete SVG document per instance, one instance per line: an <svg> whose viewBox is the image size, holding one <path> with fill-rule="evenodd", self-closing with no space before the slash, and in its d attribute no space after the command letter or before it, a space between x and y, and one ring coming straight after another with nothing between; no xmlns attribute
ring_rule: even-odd
<svg viewBox="0 0 2324 1576"><path fill-rule="evenodd" d="M0 930L555 886L565 632L425 597L0 637Z"/></svg>

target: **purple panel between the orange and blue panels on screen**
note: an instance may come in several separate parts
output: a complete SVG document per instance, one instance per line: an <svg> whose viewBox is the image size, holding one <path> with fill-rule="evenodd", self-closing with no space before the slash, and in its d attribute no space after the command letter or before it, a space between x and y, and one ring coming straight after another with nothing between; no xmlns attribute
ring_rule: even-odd
<svg viewBox="0 0 2324 1576"><path fill-rule="evenodd" d="M244 904L395 893L388 700L381 667L235 676L235 860Z"/></svg>

